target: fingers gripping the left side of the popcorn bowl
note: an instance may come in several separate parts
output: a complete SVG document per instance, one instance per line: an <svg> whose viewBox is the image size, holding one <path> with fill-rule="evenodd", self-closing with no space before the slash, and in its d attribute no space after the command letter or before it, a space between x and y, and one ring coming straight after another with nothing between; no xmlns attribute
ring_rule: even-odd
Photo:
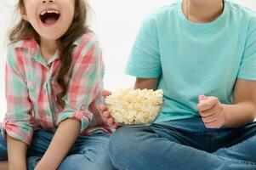
<svg viewBox="0 0 256 170"><path fill-rule="evenodd" d="M106 96L109 96L109 95L111 95L110 91L107 91L107 90L102 91L102 96L103 97L106 97ZM115 123L114 118L111 117L110 113L107 111L107 107L105 105L100 105L100 111L102 111L103 116L105 117L105 120L106 120L108 126L111 126L111 127L114 127L114 128L119 127L119 125L117 123Z"/></svg>

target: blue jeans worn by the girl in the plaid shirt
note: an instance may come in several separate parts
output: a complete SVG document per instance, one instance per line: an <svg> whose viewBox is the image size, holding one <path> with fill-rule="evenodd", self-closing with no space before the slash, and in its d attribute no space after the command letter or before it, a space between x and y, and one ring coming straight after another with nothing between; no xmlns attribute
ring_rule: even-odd
<svg viewBox="0 0 256 170"><path fill-rule="evenodd" d="M54 133L37 130L33 134L31 146L27 150L27 170L36 167L42 158ZM65 142L65 139L63 140ZM75 144L61 162L59 170L112 170L107 146L109 134L95 133L88 136L78 136ZM0 161L7 161L6 141L0 135Z"/></svg>

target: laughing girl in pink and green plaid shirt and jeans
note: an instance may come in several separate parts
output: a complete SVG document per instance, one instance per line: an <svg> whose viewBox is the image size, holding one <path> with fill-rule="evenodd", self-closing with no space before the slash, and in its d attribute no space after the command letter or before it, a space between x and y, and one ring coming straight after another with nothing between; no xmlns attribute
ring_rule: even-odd
<svg viewBox="0 0 256 170"><path fill-rule="evenodd" d="M83 0L20 0L9 35L0 169L111 169L104 66Z"/></svg>

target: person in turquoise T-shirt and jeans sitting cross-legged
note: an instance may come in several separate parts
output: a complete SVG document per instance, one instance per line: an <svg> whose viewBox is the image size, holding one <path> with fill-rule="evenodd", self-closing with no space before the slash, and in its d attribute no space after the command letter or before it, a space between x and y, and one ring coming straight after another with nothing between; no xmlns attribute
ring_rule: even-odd
<svg viewBox="0 0 256 170"><path fill-rule="evenodd" d="M256 169L253 11L228 0L158 8L143 22L126 71L137 77L134 88L162 89L164 105L155 124L111 136L117 169Z"/></svg>

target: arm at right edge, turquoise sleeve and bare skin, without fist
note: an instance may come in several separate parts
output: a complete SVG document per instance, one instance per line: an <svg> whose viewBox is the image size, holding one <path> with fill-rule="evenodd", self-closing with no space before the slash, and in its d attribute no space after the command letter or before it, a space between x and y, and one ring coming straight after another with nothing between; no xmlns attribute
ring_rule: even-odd
<svg viewBox="0 0 256 170"><path fill-rule="evenodd" d="M225 105L226 126L240 127L256 116L256 18L250 19L234 88L234 105Z"/></svg>

